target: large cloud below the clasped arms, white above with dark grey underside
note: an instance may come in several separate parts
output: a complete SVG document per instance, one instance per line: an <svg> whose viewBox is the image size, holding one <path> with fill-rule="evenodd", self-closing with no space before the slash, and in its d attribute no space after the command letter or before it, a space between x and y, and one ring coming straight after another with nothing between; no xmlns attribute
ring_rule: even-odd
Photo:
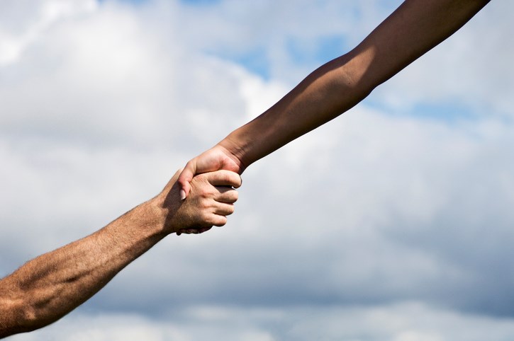
<svg viewBox="0 0 514 341"><path fill-rule="evenodd" d="M512 279L501 272L511 268L512 160L481 165L507 155L512 134L486 126L479 143L445 125L356 110L252 166L228 226L169 238L93 302L151 313L190 302L416 299L510 316Z"/></svg>

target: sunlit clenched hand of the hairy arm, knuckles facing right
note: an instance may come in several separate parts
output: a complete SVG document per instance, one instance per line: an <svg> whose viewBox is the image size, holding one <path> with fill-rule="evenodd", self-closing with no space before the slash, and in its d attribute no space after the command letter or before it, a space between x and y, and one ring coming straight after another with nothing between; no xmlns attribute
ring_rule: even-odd
<svg viewBox="0 0 514 341"><path fill-rule="evenodd" d="M216 171L197 175L191 180L191 191L186 200L179 199L177 171L164 190L155 197L164 215L166 233L201 233L212 226L223 226L234 212L241 177L231 171Z"/></svg>

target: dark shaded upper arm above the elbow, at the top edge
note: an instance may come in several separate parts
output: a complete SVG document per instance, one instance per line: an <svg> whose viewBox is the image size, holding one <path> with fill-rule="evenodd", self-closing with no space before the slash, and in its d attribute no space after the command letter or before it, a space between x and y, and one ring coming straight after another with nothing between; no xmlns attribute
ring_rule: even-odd
<svg viewBox="0 0 514 341"><path fill-rule="evenodd" d="M359 79L378 86L459 30L489 0L406 0L354 50Z"/></svg>

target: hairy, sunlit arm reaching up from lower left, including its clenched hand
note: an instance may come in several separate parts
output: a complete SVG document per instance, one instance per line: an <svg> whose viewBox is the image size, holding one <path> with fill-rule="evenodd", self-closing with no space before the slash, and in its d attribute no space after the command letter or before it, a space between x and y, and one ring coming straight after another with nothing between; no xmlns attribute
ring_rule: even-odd
<svg viewBox="0 0 514 341"><path fill-rule="evenodd" d="M123 267L179 229L223 226L233 213L239 175L220 171L191 182L179 200L179 172L157 197L79 241L40 255L0 280L0 338L55 322L84 303Z"/></svg>

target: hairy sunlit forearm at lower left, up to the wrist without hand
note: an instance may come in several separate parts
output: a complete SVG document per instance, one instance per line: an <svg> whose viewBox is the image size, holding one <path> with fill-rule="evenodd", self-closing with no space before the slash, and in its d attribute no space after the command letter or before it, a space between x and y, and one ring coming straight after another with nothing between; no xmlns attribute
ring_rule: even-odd
<svg viewBox="0 0 514 341"><path fill-rule="evenodd" d="M0 337L48 325L164 238L149 202L100 231L30 260L0 281Z"/></svg>

